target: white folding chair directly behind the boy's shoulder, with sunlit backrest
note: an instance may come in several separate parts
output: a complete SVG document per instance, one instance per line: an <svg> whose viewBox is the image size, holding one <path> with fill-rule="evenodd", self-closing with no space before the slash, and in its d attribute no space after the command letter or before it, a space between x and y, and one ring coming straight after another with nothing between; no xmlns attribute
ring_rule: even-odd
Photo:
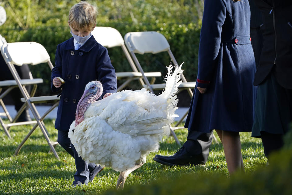
<svg viewBox="0 0 292 195"><path fill-rule="evenodd" d="M125 47L124 40L120 32L112 27L95 27L91 33L96 39L96 41L106 48L121 47L133 70L132 72L116 73L117 80L126 79L126 81L124 81L117 88L117 91L123 90L123 88L126 87L133 80L139 80L139 82L141 83L141 86L143 87L145 84L142 79L143 75L137 70L133 60L131 59L131 56L127 48ZM151 83L154 83L155 77L161 76L161 73L149 72L149 73L144 73L144 76L152 77Z"/></svg>

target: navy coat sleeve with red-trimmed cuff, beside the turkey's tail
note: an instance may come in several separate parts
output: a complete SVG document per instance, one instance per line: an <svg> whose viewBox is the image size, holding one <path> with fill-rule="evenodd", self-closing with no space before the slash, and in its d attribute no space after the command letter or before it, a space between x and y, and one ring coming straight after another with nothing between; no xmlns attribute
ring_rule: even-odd
<svg viewBox="0 0 292 195"><path fill-rule="evenodd" d="M222 0L206 0L199 44L197 87L206 88L211 80L221 43L222 25L226 17L226 6Z"/></svg>

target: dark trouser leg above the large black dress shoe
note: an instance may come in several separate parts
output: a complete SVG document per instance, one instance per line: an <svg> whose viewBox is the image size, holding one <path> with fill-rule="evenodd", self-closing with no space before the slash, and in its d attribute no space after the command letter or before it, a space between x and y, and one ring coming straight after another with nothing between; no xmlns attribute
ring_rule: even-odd
<svg viewBox="0 0 292 195"><path fill-rule="evenodd" d="M187 140L183 144L183 147L185 147L190 154L197 154L198 158L200 158L200 161L206 163L212 140L213 130L210 133L189 131Z"/></svg>

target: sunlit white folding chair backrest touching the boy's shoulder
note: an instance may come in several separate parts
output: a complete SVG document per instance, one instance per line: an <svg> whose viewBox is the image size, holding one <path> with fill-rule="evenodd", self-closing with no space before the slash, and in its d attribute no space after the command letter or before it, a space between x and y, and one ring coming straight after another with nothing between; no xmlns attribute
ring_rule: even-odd
<svg viewBox="0 0 292 195"><path fill-rule="evenodd" d="M124 45L122 35L118 30L112 27L95 27L92 35L96 41L106 48L112 48Z"/></svg>

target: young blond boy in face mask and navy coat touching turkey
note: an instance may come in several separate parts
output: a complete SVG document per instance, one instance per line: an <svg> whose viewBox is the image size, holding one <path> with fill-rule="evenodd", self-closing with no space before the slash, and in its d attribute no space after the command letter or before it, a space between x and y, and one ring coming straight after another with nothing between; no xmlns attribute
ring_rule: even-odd
<svg viewBox="0 0 292 195"><path fill-rule="evenodd" d="M78 157L68 138L78 101L90 81L99 80L103 84L103 98L115 93L117 84L106 48L91 35L96 26L96 8L88 2L79 2L70 9L68 24L73 37L57 46L51 87L54 92L62 88L55 128L58 129L58 143L75 158L76 173L72 184L75 187L91 182L103 169ZM56 77L61 77L65 83Z"/></svg>

